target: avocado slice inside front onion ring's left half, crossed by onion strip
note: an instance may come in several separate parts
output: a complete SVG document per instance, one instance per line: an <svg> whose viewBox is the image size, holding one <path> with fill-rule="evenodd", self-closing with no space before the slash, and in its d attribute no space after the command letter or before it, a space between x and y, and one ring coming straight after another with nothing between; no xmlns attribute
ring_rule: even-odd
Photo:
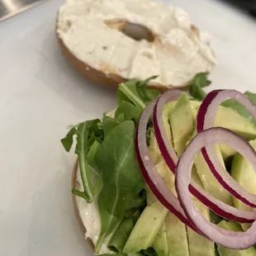
<svg viewBox="0 0 256 256"><path fill-rule="evenodd" d="M220 163L225 168L225 163L220 153L219 145L216 145L216 154L220 160ZM211 173L210 168L206 164L206 160L203 158L201 152L197 154L195 159L195 166L197 167L197 173L201 179L201 183L205 188L206 192L209 192L211 196L220 199L221 201L233 205L232 197L229 192L225 190L224 187L220 185L220 183L216 180L214 175Z"/></svg>

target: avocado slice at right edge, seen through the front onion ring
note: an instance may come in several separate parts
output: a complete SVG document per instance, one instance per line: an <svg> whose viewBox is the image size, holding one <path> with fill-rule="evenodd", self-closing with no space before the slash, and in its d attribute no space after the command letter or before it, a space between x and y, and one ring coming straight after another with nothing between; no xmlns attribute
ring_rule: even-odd
<svg viewBox="0 0 256 256"><path fill-rule="evenodd" d="M249 144L256 150L256 140L249 141ZM237 153L232 162L231 176L241 187L244 187L248 192L256 194L256 174L254 168L248 163L244 157ZM256 211L254 208L245 205L242 201L233 197L235 208L242 211ZM248 230L249 224L242 224L243 230Z"/></svg>

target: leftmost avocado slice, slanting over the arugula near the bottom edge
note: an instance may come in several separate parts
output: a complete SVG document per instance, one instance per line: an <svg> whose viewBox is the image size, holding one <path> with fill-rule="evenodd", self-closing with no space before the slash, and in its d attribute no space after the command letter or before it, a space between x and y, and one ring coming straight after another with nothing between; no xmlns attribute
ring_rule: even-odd
<svg viewBox="0 0 256 256"><path fill-rule="evenodd" d="M168 210L159 201L146 206L126 241L123 253L140 252L151 247L167 214Z"/></svg>

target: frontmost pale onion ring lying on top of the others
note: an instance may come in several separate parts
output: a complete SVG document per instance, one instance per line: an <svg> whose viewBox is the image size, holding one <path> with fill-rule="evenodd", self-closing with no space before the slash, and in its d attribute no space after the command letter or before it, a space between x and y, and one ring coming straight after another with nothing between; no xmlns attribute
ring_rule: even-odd
<svg viewBox="0 0 256 256"><path fill-rule="evenodd" d="M178 161L176 170L175 187L178 192L178 200L183 206L187 218L191 220L197 230L216 244L221 244L230 249L247 249L256 244L256 222L246 232L234 232L223 230L206 220L197 210L194 201L190 197L189 183L192 174L194 157L202 147L214 144L225 144L239 151L248 159L253 168L256 168L256 153L249 143L230 130L215 127L201 131L184 150Z"/></svg>

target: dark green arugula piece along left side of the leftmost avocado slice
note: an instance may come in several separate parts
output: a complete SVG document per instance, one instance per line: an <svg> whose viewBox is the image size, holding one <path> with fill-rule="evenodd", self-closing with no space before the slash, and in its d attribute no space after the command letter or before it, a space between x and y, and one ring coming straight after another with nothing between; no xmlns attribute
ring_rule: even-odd
<svg viewBox="0 0 256 256"><path fill-rule="evenodd" d="M108 248L114 252L121 253L133 228L134 221L132 218L122 220L121 224L116 229L116 232L111 237Z"/></svg>

